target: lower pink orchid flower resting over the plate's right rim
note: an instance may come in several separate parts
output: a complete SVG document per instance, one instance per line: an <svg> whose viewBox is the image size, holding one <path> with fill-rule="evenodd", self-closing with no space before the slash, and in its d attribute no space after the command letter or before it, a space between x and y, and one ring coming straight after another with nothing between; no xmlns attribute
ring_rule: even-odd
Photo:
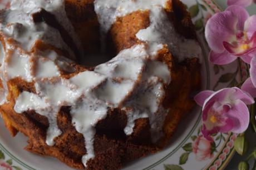
<svg viewBox="0 0 256 170"><path fill-rule="evenodd" d="M195 96L196 103L203 107L201 132L208 140L213 133L242 133L249 125L247 104L253 104L250 94L237 87L224 88L217 92L203 91Z"/></svg>

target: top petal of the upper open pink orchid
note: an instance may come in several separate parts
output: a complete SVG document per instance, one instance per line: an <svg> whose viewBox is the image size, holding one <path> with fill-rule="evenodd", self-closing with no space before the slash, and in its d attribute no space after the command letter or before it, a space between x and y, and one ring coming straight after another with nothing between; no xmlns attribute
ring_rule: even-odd
<svg viewBox="0 0 256 170"><path fill-rule="evenodd" d="M225 11L230 11L238 18L237 28L240 31L244 30L244 22L250 17L249 13L241 6L230 6Z"/></svg>

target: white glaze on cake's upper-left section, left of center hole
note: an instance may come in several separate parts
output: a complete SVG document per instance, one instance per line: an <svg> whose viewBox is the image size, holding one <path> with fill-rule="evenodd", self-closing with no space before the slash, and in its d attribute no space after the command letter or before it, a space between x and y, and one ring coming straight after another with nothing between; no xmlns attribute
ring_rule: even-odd
<svg viewBox="0 0 256 170"><path fill-rule="evenodd" d="M57 29L49 27L45 22L33 22L32 14L39 12L41 8L54 13L57 21L71 34L77 47L81 47L72 24L66 16L65 1L63 0L12 0L11 10L4 14L6 17L1 23L1 30L6 35L13 37L27 51L38 39L41 39L46 44L67 50L75 58L75 54L63 41Z"/></svg>

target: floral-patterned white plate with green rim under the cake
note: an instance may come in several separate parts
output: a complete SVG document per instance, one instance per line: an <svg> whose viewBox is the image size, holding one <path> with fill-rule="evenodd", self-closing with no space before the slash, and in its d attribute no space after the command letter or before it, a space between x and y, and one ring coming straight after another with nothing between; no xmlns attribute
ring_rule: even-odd
<svg viewBox="0 0 256 170"><path fill-rule="evenodd" d="M1 6L9 3L0 1ZM220 8L213 0L183 0L193 17L195 28L203 49L201 73L203 89L219 89L232 86L246 79L248 66L241 61L228 66L214 66L208 61L209 48L204 39L204 26L208 19ZM224 169L234 154L233 144L236 134L215 134L214 142L205 141L200 133L200 108L184 118L173 136L169 147L163 151L142 158L127 165L128 169L165 169L165 170L199 170ZM19 133L12 138L0 121L0 169L71 169L55 158L37 156L24 151L26 137Z"/></svg>

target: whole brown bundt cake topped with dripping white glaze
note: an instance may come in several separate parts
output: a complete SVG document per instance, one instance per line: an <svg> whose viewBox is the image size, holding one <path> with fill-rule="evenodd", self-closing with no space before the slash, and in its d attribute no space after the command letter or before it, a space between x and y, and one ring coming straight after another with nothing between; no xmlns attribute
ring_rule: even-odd
<svg viewBox="0 0 256 170"><path fill-rule="evenodd" d="M201 49L179 0L13 0L0 18L0 111L29 152L120 169L195 106Z"/></svg>

